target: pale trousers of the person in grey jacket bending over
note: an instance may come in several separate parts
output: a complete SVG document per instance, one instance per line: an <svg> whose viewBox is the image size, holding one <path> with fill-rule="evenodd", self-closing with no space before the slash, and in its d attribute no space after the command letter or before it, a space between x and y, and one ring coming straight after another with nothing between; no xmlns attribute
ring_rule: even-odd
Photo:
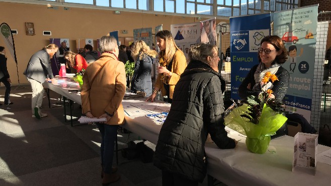
<svg viewBox="0 0 331 186"><path fill-rule="evenodd" d="M43 103L45 90L43 85L39 81L36 81L29 77L27 77L27 79L30 82L32 88L32 114L35 114L35 107L40 108Z"/></svg>

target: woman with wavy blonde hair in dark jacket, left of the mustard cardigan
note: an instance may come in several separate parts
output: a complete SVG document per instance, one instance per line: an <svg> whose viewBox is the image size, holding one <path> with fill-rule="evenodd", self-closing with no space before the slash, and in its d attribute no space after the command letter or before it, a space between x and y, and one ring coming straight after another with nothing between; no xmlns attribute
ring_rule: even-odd
<svg viewBox="0 0 331 186"><path fill-rule="evenodd" d="M131 56L135 61L131 91L145 92L146 96L150 96L152 94L152 64L155 62L157 52L150 50L142 40L134 42L131 50Z"/></svg>

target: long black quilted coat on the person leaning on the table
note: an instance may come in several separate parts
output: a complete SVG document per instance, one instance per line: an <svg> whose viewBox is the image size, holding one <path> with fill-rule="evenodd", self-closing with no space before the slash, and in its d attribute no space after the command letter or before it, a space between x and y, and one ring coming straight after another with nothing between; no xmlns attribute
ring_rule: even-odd
<svg viewBox="0 0 331 186"><path fill-rule="evenodd" d="M219 148L234 148L224 129L221 75L209 65L191 61L175 87L173 103L160 130L154 165L202 181L208 133Z"/></svg>

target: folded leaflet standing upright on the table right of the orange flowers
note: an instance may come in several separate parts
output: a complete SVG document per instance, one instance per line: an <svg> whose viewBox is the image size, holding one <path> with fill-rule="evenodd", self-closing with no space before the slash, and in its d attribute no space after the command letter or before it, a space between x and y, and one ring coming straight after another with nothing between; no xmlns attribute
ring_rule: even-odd
<svg viewBox="0 0 331 186"><path fill-rule="evenodd" d="M293 168L303 167L316 170L317 134L298 132L294 136Z"/></svg>

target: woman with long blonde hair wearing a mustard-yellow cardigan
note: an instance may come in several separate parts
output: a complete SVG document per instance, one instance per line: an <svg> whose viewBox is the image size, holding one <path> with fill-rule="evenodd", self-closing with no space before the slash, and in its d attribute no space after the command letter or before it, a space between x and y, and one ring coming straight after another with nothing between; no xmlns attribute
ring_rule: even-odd
<svg viewBox="0 0 331 186"><path fill-rule="evenodd" d="M146 101L153 102L156 93L161 90L162 96L168 96L168 102L173 99L175 85L184 72L187 64L184 53L177 47L170 31L159 31L156 35L157 46L160 49L158 60L158 75L154 91Z"/></svg>

